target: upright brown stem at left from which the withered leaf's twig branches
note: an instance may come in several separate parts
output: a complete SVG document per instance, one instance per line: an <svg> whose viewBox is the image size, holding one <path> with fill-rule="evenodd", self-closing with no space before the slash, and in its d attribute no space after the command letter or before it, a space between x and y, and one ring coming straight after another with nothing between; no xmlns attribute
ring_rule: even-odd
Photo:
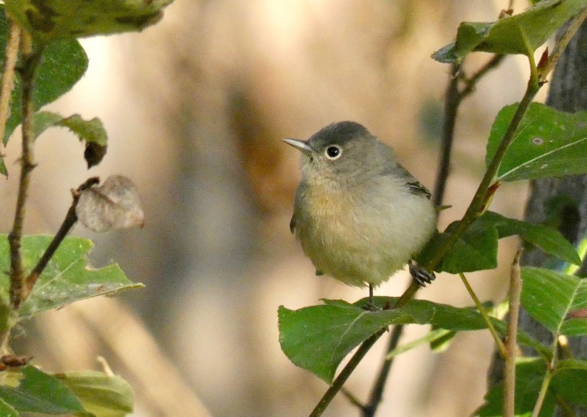
<svg viewBox="0 0 587 417"><path fill-rule="evenodd" d="M10 245L10 301L13 310L21 304L21 293L24 286L24 271L21 256L22 229L25 221L26 198L29 189L31 171L35 168L33 155L33 80L35 77L35 53L32 51L32 40L28 33L22 36L22 157L21 177L18 184L16 210L12 230L8 235Z"/></svg>

